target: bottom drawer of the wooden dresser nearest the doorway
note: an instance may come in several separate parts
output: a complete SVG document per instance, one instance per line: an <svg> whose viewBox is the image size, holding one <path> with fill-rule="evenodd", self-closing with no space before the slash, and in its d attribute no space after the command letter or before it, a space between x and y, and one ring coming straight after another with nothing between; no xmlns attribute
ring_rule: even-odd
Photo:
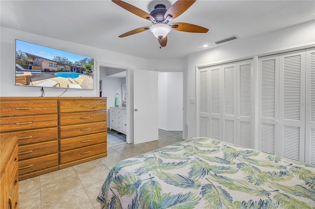
<svg viewBox="0 0 315 209"><path fill-rule="evenodd" d="M98 154L106 153L107 144L97 144L93 146L83 147L75 150L63 151L60 153L60 163L67 163L86 157L95 156Z"/></svg>

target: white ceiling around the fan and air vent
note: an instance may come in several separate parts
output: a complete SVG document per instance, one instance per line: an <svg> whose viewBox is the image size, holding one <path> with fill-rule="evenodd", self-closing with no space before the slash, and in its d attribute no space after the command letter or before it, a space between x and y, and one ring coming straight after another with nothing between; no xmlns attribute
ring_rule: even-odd
<svg viewBox="0 0 315 209"><path fill-rule="evenodd" d="M175 0L126 2L150 13L156 4L163 3L168 8ZM3 27L157 59L180 58L213 48L218 46L213 42L232 35L246 39L315 19L314 0L197 0L169 24L190 23L209 28L209 31L172 30L167 46L160 49L157 38L150 31L119 38L127 31L152 23L110 0L1 0L0 9ZM204 44L209 46L203 48Z"/></svg>

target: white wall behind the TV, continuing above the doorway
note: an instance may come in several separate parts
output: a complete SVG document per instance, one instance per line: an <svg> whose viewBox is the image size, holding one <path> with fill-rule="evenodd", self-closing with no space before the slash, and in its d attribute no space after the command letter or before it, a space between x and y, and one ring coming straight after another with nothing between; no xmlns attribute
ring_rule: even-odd
<svg viewBox="0 0 315 209"><path fill-rule="evenodd" d="M41 95L40 88L15 86L15 39L43 45L67 52L82 54L95 59L94 90L68 89L63 97L98 97L99 96L99 67L97 62L110 63L119 66L126 66L129 69L177 69L182 70L180 59L148 60L126 54L110 52L94 47L67 42L37 34L13 30L0 27L0 96L11 97L38 97ZM152 63L151 63L152 62ZM97 82L96 82L97 81ZM61 95L65 89L45 88L46 97L56 97Z"/></svg>

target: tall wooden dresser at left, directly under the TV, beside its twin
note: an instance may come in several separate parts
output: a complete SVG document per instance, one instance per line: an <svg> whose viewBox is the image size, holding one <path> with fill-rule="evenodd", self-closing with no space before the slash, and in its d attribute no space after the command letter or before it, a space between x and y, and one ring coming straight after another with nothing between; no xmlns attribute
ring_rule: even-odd
<svg viewBox="0 0 315 209"><path fill-rule="evenodd" d="M1 97L0 137L17 136L19 180L58 170L57 97Z"/></svg>

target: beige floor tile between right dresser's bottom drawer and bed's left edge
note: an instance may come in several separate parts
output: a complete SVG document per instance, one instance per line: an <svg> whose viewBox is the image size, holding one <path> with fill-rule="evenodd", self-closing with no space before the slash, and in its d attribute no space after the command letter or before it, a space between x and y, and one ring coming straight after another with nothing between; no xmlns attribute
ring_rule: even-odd
<svg viewBox="0 0 315 209"><path fill-rule="evenodd" d="M110 170L99 160L92 160L73 166L84 187L105 181Z"/></svg>

